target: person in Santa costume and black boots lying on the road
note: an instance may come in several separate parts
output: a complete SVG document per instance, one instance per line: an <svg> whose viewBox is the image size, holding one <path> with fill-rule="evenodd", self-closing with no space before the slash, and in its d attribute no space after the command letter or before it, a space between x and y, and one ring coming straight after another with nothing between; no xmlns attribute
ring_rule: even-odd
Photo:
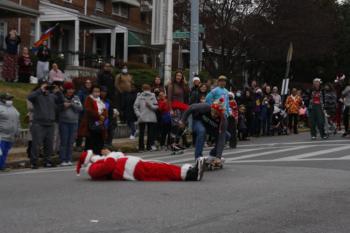
<svg viewBox="0 0 350 233"><path fill-rule="evenodd" d="M103 156L84 151L77 163L76 172L80 175L82 167L92 180L128 181L200 181L204 172L204 159L196 165L177 166L169 163L146 161L121 152L102 150Z"/></svg>

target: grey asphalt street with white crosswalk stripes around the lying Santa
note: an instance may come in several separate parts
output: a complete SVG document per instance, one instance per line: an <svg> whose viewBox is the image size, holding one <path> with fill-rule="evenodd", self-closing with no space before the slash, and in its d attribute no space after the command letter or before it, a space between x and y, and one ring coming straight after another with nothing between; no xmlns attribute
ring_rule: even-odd
<svg viewBox="0 0 350 233"><path fill-rule="evenodd" d="M194 161L193 150L141 156ZM0 232L350 232L349 139L254 138L224 157L201 182L91 181L72 167L2 173Z"/></svg>

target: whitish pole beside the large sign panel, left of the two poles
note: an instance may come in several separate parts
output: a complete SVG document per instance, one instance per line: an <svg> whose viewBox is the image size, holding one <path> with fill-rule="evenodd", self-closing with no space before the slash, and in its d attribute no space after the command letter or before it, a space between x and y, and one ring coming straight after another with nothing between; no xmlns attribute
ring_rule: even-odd
<svg viewBox="0 0 350 233"><path fill-rule="evenodd" d="M174 0L167 0L167 28L164 61L164 85L171 80L172 50L173 50L173 16Z"/></svg>

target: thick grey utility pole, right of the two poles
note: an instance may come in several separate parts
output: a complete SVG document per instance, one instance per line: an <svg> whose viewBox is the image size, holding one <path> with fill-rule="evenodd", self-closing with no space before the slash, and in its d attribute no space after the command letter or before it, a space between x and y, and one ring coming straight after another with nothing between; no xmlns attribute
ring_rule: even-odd
<svg viewBox="0 0 350 233"><path fill-rule="evenodd" d="M190 49L190 87L194 74L199 72L199 0L191 1L191 49Z"/></svg>

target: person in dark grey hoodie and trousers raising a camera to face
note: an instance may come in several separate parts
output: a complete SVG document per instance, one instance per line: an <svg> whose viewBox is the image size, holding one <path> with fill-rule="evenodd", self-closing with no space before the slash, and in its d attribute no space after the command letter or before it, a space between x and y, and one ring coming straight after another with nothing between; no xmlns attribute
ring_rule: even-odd
<svg viewBox="0 0 350 233"><path fill-rule="evenodd" d="M32 149L30 162L32 169L38 168L38 156L41 146L44 147L44 167L53 167L51 155L53 154L54 123L56 110L63 101L62 92L57 86L48 85L40 81L40 88L28 96L33 104L33 122L31 126Z"/></svg>

